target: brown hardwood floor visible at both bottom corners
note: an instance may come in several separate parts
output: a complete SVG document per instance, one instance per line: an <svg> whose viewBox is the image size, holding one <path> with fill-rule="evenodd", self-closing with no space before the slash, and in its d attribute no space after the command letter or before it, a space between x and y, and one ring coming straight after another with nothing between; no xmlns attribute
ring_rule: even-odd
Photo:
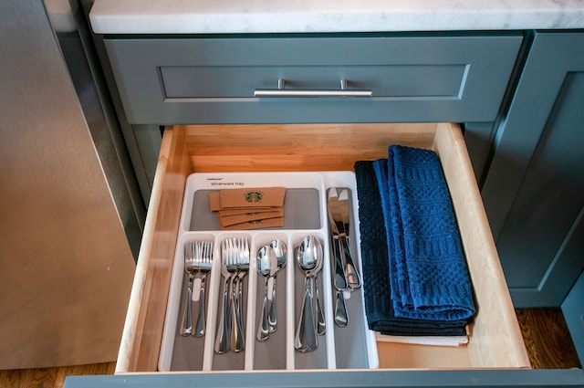
<svg viewBox="0 0 584 388"><path fill-rule="evenodd" d="M516 309L532 367L580 368L574 344L560 309ZM0 371L3 388L61 388L71 375L113 374L115 362L61 368Z"/></svg>

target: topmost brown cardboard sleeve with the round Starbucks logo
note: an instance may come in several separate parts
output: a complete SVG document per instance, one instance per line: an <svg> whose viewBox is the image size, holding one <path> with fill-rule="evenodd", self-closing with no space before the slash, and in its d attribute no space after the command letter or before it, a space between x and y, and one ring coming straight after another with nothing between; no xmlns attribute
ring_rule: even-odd
<svg viewBox="0 0 584 388"><path fill-rule="evenodd" d="M286 187L254 187L219 191L222 209L282 206L285 195Z"/></svg>

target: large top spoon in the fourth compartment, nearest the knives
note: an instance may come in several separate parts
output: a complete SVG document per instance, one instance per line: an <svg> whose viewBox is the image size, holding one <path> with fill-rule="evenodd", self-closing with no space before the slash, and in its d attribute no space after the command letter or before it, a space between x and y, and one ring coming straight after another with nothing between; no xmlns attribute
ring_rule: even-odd
<svg viewBox="0 0 584 388"><path fill-rule="evenodd" d="M306 236L296 252L298 267L305 272L305 289L294 347L297 351L315 351L318 347L312 299L312 283L322 267L322 246L315 236ZM318 296L318 288L317 288ZM318 307L319 309L319 307Z"/></svg>

